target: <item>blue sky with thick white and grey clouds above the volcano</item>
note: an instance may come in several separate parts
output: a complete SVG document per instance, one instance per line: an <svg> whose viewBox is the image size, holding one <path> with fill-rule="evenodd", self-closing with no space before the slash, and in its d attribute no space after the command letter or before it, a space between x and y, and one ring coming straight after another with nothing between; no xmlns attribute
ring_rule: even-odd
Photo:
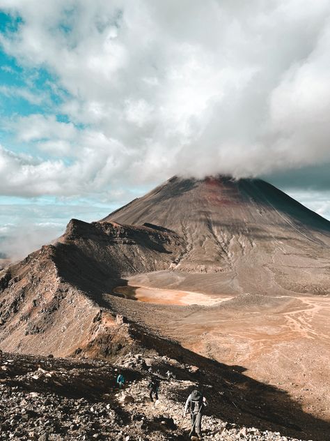
<svg viewBox="0 0 330 441"><path fill-rule="evenodd" d="M330 219L329 0L0 0L0 257L174 174Z"/></svg>

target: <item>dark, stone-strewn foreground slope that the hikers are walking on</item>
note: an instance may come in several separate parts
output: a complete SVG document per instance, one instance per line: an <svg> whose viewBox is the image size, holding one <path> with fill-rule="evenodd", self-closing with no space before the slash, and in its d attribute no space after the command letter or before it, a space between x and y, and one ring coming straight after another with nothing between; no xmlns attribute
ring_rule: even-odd
<svg viewBox="0 0 330 441"><path fill-rule="evenodd" d="M104 359L1 354L0 439L187 440L189 416L182 417L182 411L196 384L208 403L203 416L205 441L307 440L313 425L320 433L315 439L325 439L327 424L307 417L298 425L304 414L272 387L203 357L197 359L175 345L167 346L175 359L140 349L118 357L115 364ZM191 359L201 368L189 364ZM119 372L125 376L122 390L116 387ZM167 378L166 372L175 378ZM160 382L158 401L150 402L150 375Z"/></svg>

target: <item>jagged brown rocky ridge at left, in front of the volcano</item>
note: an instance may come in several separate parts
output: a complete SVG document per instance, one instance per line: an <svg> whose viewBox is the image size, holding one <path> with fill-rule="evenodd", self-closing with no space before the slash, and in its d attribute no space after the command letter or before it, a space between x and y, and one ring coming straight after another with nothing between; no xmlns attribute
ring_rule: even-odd
<svg viewBox="0 0 330 441"><path fill-rule="evenodd" d="M129 338L119 338L102 296L129 274L168 268L183 244L159 228L70 221L56 244L0 273L0 347L61 357L84 347L94 356L116 353Z"/></svg>

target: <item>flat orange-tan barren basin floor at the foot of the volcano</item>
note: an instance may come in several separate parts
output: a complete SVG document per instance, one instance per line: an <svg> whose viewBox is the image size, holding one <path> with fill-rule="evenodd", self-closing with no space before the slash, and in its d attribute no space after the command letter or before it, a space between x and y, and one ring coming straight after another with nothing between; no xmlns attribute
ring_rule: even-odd
<svg viewBox="0 0 330 441"><path fill-rule="evenodd" d="M329 296L216 296L139 287L139 278L114 291L145 306L158 305L157 314L139 316L148 327L288 391L305 412L330 420Z"/></svg>

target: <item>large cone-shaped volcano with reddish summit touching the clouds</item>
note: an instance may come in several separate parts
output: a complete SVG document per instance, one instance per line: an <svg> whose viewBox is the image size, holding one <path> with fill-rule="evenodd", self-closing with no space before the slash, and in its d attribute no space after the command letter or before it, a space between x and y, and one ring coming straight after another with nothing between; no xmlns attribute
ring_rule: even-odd
<svg viewBox="0 0 330 441"><path fill-rule="evenodd" d="M184 249L171 264L179 281L166 276L172 287L330 293L329 221L265 181L174 177L101 222L110 220L154 223L180 234Z"/></svg>

